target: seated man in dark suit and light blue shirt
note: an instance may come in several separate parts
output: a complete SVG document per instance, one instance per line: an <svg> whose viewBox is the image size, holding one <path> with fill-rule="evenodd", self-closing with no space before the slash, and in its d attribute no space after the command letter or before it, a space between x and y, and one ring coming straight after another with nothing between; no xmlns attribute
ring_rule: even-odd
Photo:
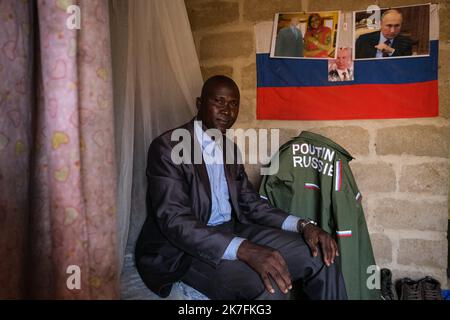
<svg viewBox="0 0 450 320"><path fill-rule="evenodd" d="M330 234L271 206L237 157L207 161L239 153L223 136L236 121L239 104L232 79L211 77L197 98L197 116L151 143L148 215L135 255L140 276L161 297L182 281L209 299L286 299L299 280L309 299L347 299ZM189 133L182 141L194 150L178 164L175 130Z"/></svg>

